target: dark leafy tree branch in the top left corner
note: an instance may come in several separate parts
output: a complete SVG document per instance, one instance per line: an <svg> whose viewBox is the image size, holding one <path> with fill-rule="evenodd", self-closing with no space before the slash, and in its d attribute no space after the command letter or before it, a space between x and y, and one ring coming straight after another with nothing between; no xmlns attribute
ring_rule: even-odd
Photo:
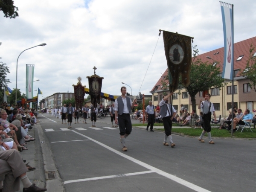
<svg viewBox="0 0 256 192"><path fill-rule="evenodd" d="M0 11L3 12L4 17L15 18L18 17L18 11L19 9L14 6L13 0L0 0Z"/></svg>

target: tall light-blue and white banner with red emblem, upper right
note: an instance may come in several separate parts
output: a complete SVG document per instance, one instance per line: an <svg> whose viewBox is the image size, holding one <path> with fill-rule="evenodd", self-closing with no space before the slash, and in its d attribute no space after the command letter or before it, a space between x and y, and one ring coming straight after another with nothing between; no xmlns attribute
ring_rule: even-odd
<svg viewBox="0 0 256 192"><path fill-rule="evenodd" d="M221 14L224 32L224 67L222 78L233 79L234 64L234 33L233 33L233 5L221 2Z"/></svg>

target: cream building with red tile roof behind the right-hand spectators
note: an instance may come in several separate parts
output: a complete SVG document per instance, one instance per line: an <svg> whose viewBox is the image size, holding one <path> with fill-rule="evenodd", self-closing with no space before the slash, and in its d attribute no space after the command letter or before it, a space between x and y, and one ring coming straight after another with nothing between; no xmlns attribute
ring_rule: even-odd
<svg viewBox="0 0 256 192"><path fill-rule="evenodd" d="M231 108L232 101L232 90L234 90L234 103L237 108L241 108L244 112L245 109L252 111L256 108L256 91L249 86L250 80L246 76L242 76L243 71L250 70L246 69L246 64L250 58L250 46L256 47L256 37L240 41L234 44L234 87L232 89L232 81L223 79L223 87L211 87L208 90L208 93L211 94L210 101L213 103L215 108L215 113L218 119L218 116L228 116L229 109ZM256 49L253 50L252 55L256 57ZM220 67L222 76L223 70L223 61L224 61L224 47L206 52L201 55L197 55L197 58L200 58L202 62L208 62L208 64L216 65ZM202 72L204 73L204 72ZM163 93L169 93L169 91L163 90L163 80L164 77L168 74L168 70L163 73L163 76L157 81L150 93L152 94L153 105L159 104L162 100ZM180 94L179 94L180 91ZM195 96L196 99L196 110L198 110L198 104L200 99L204 100L203 92L197 93ZM180 110L180 104L183 104L189 112L192 111L191 97L185 88L176 90L173 95L173 106L175 110Z"/></svg>

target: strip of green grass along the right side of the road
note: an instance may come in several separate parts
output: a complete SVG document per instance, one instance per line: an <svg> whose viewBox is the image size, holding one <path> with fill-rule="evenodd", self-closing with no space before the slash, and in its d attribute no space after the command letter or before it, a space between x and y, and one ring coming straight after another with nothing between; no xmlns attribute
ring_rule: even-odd
<svg viewBox="0 0 256 192"><path fill-rule="evenodd" d="M147 124L133 124L133 126L134 127L147 126ZM163 128L157 128L157 126L163 126L163 123L155 123L154 129L164 131ZM172 126L179 126L179 125L172 124ZM172 132L183 134L186 136L191 136L191 137L199 137L200 134L202 133L202 130L203 129L200 129L200 128L196 128L196 129L172 128ZM241 129L239 129L239 130L240 131L233 133L233 138L256 138L256 129L252 128L253 133L250 131L250 129L248 129L248 131L246 131L246 129L244 129L242 133L241 133ZM213 128L211 131L211 135L212 135L212 137L232 137L231 133L229 131L227 131L227 129L218 129L218 128ZM205 136L207 136L207 134L205 134Z"/></svg>

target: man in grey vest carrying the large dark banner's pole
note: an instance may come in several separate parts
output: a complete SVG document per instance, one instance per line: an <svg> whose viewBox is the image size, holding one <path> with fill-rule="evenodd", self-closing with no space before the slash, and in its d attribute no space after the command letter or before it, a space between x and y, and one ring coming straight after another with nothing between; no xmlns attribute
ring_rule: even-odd
<svg viewBox="0 0 256 192"><path fill-rule="evenodd" d="M167 140L169 140L171 147L175 146L175 143L172 141L172 119L175 117L177 111L173 108L171 104L169 104L168 98L173 95L172 93L169 93L167 96L163 96L162 101L160 101L160 115L163 119L163 127L165 131L163 145L169 146L167 143Z"/></svg>

